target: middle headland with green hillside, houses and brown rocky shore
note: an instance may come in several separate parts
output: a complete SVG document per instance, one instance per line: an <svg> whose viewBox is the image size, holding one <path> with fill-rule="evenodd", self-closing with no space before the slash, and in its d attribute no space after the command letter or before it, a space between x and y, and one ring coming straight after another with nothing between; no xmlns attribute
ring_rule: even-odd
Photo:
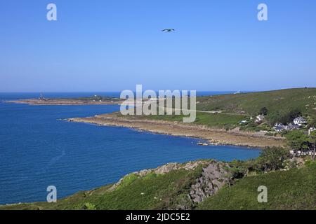
<svg viewBox="0 0 316 224"><path fill-rule="evenodd" d="M265 118L256 123L262 109ZM197 97L197 118L190 124L182 122L183 115L121 116L120 113L72 121L197 137L211 144L265 147L284 146L284 135L275 132L273 125L291 123L297 116L304 116L310 125L315 123L316 88Z"/></svg>

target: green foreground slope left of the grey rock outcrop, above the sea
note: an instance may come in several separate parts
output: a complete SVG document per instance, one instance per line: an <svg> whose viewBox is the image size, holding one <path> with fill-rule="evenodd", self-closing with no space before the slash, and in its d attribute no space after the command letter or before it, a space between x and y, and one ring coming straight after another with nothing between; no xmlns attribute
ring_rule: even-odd
<svg viewBox="0 0 316 224"><path fill-rule="evenodd" d="M57 203L36 202L0 206L1 209L86 209L86 203L96 209L176 209L176 204L187 204L187 194L192 183L202 172L202 166L194 170L178 169L168 174L154 174L139 177L130 174L124 181L110 190L105 186L84 191L58 200Z"/></svg>

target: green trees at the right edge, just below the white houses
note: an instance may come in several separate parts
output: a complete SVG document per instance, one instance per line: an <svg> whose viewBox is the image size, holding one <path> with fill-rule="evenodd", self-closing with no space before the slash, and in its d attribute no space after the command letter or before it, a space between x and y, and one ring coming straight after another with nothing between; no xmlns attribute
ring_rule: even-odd
<svg viewBox="0 0 316 224"><path fill-rule="evenodd" d="M308 136L299 130L289 132L287 135L287 144L294 151L313 151L312 159L315 160L316 153L316 131Z"/></svg>

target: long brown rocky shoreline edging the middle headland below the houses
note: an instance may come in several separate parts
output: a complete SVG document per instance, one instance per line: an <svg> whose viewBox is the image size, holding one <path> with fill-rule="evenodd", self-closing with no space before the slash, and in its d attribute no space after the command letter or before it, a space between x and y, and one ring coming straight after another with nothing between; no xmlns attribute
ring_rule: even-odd
<svg viewBox="0 0 316 224"><path fill-rule="evenodd" d="M164 120L143 120L122 118L115 113L97 115L88 118L69 118L68 122L90 123L94 125L127 127L133 130L145 131L154 134L166 134L176 137L190 137L207 141L210 145L220 146L243 146L249 148L283 147L284 138L267 137L254 132L226 131L214 129L202 125L187 125L178 122Z"/></svg>

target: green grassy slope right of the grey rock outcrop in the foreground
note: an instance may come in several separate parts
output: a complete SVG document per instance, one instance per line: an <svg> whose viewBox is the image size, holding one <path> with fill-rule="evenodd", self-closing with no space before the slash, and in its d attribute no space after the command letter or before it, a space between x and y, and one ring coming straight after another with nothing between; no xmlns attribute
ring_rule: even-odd
<svg viewBox="0 0 316 224"><path fill-rule="evenodd" d="M301 169L241 179L223 188L198 209L316 209L316 163ZM268 203L258 203L258 186L268 188Z"/></svg>

